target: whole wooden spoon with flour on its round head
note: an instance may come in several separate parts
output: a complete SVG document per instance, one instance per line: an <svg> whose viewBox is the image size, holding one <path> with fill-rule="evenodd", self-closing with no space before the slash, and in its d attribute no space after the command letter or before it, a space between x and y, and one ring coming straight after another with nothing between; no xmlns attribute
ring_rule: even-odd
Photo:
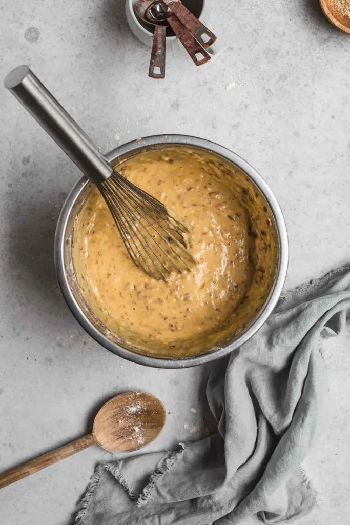
<svg viewBox="0 0 350 525"><path fill-rule="evenodd" d="M157 397L145 392L125 392L113 397L94 418L92 433L63 447L27 461L0 475L0 488L34 474L90 445L110 452L131 452L151 443L163 430L165 408Z"/></svg>

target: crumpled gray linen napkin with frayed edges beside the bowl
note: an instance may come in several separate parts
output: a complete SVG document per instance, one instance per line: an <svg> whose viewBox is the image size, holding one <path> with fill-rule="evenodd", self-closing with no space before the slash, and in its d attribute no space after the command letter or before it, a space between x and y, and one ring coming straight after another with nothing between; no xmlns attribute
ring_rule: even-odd
<svg viewBox="0 0 350 525"><path fill-rule="evenodd" d="M259 332L217 362L218 434L175 452L99 465L77 525L229 525L300 518L317 495L300 467L325 423L321 338L350 314L350 264L285 293Z"/></svg>

